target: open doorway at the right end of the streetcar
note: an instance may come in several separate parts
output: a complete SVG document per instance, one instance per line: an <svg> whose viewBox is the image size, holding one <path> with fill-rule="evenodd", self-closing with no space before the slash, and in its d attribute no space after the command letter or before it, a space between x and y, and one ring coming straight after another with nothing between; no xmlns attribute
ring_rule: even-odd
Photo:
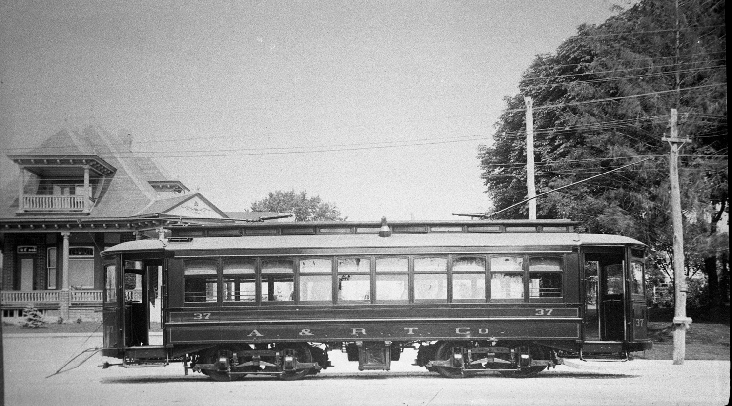
<svg viewBox="0 0 732 406"><path fill-rule="evenodd" d="M624 268L624 249L585 252L585 341L624 340Z"/></svg>

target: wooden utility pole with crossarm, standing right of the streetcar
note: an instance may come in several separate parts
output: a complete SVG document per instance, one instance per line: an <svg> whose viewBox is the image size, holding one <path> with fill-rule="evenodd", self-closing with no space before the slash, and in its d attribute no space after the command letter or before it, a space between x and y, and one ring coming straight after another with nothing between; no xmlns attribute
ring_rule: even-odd
<svg viewBox="0 0 732 406"><path fill-rule="evenodd" d="M686 355L686 331L691 317L686 315L687 283L684 277L684 227L681 218L681 191L679 190L679 150L688 138L679 138L679 112L671 109L671 135L664 137L671 146L668 157L668 176L671 183L671 216L673 217L673 364L684 364Z"/></svg>

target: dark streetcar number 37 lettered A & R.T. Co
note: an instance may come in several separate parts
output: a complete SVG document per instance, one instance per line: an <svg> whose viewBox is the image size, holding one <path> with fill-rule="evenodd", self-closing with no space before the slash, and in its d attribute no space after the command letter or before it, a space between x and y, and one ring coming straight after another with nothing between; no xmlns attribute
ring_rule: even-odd
<svg viewBox="0 0 732 406"><path fill-rule="evenodd" d="M302 379L332 366L331 350L360 370L389 370L417 348L414 364L445 377L632 359L651 348L646 247L573 224L171 227L171 238L102 252L102 353L123 366L182 362L214 380ZM149 340L155 297L162 345Z"/></svg>

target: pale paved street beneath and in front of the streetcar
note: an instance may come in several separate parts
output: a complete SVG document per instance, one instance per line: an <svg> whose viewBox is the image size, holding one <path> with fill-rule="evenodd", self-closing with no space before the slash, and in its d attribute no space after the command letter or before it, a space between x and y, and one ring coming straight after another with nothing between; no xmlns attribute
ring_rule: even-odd
<svg viewBox="0 0 732 406"><path fill-rule="evenodd" d="M449 380L411 366L406 350L391 372L359 372L345 354L335 367L306 380L246 377L218 383L184 376L181 364L101 369L94 356L70 372L53 374L101 337L5 337L6 405L726 405L729 361L570 361L536 378L482 375Z"/></svg>

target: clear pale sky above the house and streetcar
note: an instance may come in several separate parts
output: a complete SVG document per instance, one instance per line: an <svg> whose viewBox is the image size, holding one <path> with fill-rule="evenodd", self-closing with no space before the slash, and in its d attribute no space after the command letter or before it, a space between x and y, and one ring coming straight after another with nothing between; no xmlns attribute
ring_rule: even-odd
<svg viewBox="0 0 732 406"><path fill-rule="evenodd" d="M294 189L351 220L464 219L490 208L503 98L613 4L3 1L0 182L12 149L94 124L223 211Z"/></svg>

